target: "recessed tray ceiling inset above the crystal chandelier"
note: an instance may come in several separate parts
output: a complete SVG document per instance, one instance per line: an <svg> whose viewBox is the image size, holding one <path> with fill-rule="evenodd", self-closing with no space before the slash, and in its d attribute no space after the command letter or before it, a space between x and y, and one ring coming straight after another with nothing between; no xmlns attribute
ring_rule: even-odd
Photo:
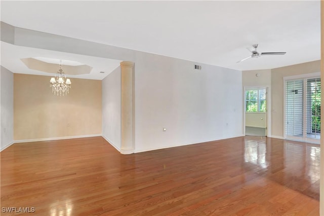
<svg viewBox="0 0 324 216"><path fill-rule="evenodd" d="M59 67L60 59L33 57L33 58L22 58L21 61L29 69L55 74L57 72L57 68ZM64 68L64 73L68 75L90 74L92 70L91 66L82 64L77 61L62 60L62 65Z"/></svg>

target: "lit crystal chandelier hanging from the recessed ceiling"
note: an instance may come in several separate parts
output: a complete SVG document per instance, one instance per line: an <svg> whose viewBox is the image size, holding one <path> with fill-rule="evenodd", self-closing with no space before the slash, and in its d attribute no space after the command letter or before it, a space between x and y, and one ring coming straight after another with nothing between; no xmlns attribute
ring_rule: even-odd
<svg viewBox="0 0 324 216"><path fill-rule="evenodd" d="M60 60L59 70L57 71L55 77L52 77L50 80L50 87L52 87L52 92L54 95L63 96L69 93L69 88L71 88L70 79L66 79L66 75L62 69L62 61Z"/></svg>

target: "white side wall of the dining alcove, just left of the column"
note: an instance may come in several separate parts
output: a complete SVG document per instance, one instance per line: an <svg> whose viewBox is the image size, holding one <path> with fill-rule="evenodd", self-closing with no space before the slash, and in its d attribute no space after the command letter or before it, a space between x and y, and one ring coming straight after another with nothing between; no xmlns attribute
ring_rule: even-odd
<svg viewBox="0 0 324 216"><path fill-rule="evenodd" d="M120 151L120 66L102 80L102 136Z"/></svg>

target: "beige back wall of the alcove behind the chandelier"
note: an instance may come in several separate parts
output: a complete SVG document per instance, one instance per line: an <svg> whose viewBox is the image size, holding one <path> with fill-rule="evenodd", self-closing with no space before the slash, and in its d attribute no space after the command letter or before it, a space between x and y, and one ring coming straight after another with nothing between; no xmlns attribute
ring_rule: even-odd
<svg viewBox="0 0 324 216"><path fill-rule="evenodd" d="M14 140L101 134L101 81L71 79L55 96L49 80L14 74Z"/></svg>

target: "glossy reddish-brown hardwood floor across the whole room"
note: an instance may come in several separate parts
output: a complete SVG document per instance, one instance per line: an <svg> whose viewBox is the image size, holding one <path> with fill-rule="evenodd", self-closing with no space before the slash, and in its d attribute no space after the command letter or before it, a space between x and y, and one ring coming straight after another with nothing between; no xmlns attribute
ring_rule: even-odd
<svg viewBox="0 0 324 216"><path fill-rule="evenodd" d="M1 215L319 215L319 154L253 136L132 155L102 137L16 143Z"/></svg>

